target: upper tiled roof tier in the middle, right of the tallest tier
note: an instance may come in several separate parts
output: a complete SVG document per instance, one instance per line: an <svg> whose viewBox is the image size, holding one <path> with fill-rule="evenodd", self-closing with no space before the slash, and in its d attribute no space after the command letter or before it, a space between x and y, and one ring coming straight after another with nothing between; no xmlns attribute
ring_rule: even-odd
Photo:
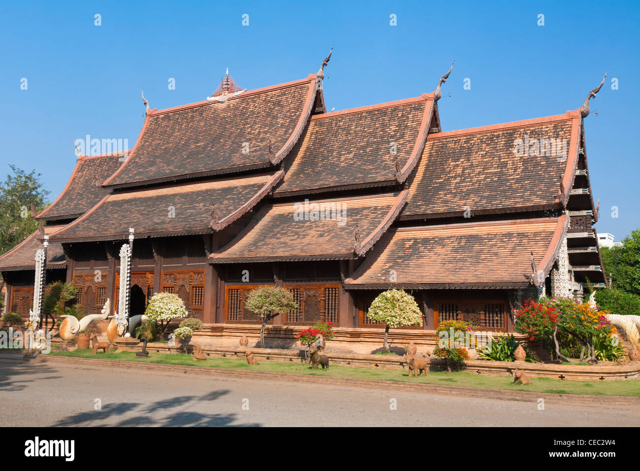
<svg viewBox="0 0 640 471"><path fill-rule="evenodd" d="M420 158L435 106L429 94L314 115L285 159L287 175L275 195L404 181Z"/></svg>

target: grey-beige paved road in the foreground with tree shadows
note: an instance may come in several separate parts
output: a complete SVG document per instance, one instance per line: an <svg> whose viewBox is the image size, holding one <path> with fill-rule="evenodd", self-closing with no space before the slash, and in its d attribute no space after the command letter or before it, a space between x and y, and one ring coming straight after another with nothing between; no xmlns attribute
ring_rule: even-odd
<svg viewBox="0 0 640 471"><path fill-rule="evenodd" d="M534 402L0 359L0 426L27 425L26 404L38 404L40 426L308 426L314 417L316 426L552 427L640 419L640 406L606 406L604 398L597 406L547 400L538 410Z"/></svg>

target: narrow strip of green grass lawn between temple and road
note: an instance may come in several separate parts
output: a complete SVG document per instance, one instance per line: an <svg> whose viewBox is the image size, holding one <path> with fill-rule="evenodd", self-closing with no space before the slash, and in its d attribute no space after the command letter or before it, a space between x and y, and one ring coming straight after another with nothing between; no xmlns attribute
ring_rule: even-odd
<svg viewBox="0 0 640 471"><path fill-rule="evenodd" d="M531 385L513 384L508 376L486 376L470 372L441 373L429 372L428 376L409 377L408 370L378 370L373 368L355 368L333 365L328 371L321 367L310 369L309 365L299 362L280 363L276 361L260 361L259 365L247 365L241 358L207 358L206 361L195 361L193 355L184 353L151 353L147 358L136 358L134 352L109 352L94 355L91 350L73 352L51 352L53 356L70 356L76 358L102 358L122 361L140 361L141 363L164 363L166 365L186 365L204 368L227 368L230 370L256 370L278 373L309 374L313 376L334 376L359 379L379 379L383 381L404 381L424 384L449 384L450 386L466 386L469 388L524 390L559 394L596 394L596 395L640 395L640 379L630 381L562 381L552 378L532 378Z"/></svg>

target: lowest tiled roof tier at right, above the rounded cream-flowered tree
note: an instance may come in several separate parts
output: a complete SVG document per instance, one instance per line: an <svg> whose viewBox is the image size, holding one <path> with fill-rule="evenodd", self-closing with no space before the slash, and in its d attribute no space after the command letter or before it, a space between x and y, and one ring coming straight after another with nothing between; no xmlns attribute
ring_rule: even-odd
<svg viewBox="0 0 640 471"><path fill-rule="evenodd" d="M345 281L349 288L526 288L548 274L567 217L390 229ZM396 281L391 281L392 270Z"/></svg>

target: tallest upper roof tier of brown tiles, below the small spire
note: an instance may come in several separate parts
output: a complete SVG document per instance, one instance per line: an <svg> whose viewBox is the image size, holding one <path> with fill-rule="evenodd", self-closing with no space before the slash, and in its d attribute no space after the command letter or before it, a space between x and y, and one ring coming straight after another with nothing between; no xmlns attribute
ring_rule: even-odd
<svg viewBox="0 0 640 471"><path fill-rule="evenodd" d="M291 151L316 98L316 76L148 112L129 160L105 186L141 186L264 168ZM271 144L269 144L269 141Z"/></svg>

